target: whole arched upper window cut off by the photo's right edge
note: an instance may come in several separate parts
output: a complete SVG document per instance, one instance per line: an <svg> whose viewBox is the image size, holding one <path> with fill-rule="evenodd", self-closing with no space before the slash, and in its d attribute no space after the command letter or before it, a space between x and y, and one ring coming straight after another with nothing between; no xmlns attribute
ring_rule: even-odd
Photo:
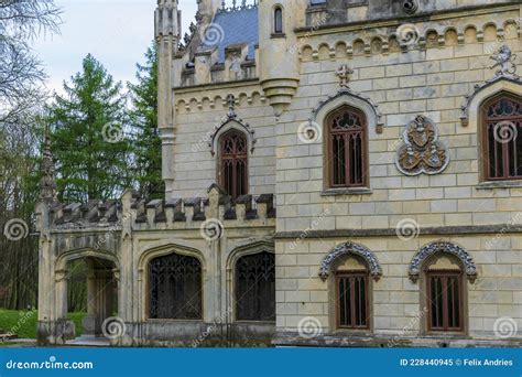
<svg viewBox="0 0 522 377"><path fill-rule="evenodd" d="M483 177L522 179L522 100L501 95L482 107Z"/></svg>

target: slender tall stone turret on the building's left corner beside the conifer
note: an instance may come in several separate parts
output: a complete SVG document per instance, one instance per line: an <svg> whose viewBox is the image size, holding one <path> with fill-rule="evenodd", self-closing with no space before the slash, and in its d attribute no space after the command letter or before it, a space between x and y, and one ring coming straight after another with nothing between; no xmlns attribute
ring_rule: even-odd
<svg viewBox="0 0 522 377"><path fill-rule="evenodd" d="M173 87L173 60L181 35L181 12L177 0L157 0L155 36L157 43L157 125L162 138L162 176L166 192L174 182L173 158L175 141L175 115Z"/></svg>

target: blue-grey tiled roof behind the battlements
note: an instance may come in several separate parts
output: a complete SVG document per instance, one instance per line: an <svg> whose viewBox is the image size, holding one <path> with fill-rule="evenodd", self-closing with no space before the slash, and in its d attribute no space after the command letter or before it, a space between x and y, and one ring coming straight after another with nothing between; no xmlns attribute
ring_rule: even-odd
<svg viewBox="0 0 522 377"><path fill-rule="evenodd" d="M248 58L255 57L255 45L259 43L258 7L218 11L213 23L222 29L218 45L219 63L225 62L225 49L230 44L247 43ZM205 45L205 47L211 47Z"/></svg>

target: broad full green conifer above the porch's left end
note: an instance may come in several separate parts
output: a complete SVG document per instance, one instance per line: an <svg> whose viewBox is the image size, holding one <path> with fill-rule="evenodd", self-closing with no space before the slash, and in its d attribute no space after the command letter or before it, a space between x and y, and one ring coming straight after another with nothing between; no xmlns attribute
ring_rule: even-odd
<svg viewBox="0 0 522 377"><path fill-rule="evenodd" d="M132 182L122 85L89 54L83 72L64 83L64 91L47 108L58 198L117 198Z"/></svg>

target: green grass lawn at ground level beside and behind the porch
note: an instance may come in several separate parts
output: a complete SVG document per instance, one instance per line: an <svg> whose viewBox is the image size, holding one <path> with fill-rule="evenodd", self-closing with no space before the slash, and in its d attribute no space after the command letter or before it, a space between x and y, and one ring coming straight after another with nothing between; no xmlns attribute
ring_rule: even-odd
<svg viewBox="0 0 522 377"><path fill-rule="evenodd" d="M81 319L85 315L85 313L69 313L67 315L75 324L76 336L81 335ZM12 332L18 337L36 338L37 317L36 311L0 309L0 330L3 333Z"/></svg>

